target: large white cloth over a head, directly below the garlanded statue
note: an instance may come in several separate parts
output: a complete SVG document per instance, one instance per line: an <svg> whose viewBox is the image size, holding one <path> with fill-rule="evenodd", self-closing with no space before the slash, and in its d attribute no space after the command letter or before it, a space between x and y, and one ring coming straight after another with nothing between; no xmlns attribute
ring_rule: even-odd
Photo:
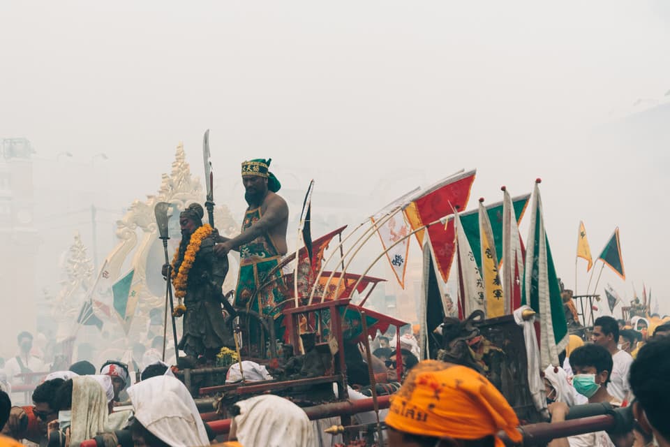
<svg viewBox="0 0 670 447"><path fill-rule="evenodd" d="M128 388L135 418L155 437L173 447L209 446L198 407L184 383L156 376Z"/></svg>

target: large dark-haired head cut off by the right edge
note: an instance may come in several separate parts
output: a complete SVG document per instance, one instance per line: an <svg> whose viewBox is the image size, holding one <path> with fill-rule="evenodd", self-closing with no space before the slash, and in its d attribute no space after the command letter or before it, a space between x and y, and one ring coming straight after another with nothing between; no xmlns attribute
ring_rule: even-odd
<svg viewBox="0 0 670 447"><path fill-rule="evenodd" d="M670 337L643 346L630 367L630 386L636 397L635 419L653 434L656 445L670 446Z"/></svg>

